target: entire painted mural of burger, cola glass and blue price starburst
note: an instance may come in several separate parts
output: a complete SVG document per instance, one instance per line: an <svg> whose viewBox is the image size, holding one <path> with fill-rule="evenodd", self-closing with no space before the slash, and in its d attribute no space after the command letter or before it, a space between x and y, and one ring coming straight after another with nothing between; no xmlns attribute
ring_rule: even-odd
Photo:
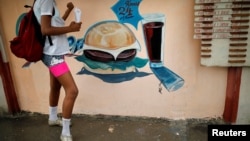
<svg viewBox="0 0 250 141"><path fill-rule="evenodd" d="M78 75L92 75L107 83L121 83L136 77L155 75L160 81L159 92L161 85L169 92L184 85L182 77L164 66L165 15L141 15L141 2L142 0L118 0L111 6L117 19L93 23L82 38L68 36L71 52L83 65ZM146 47L140 45L127 24L135 29L142 26ZM137 55L142 49L147 50L148 58ZM153 73L139 70L148 66L147 64Z"/></svg>

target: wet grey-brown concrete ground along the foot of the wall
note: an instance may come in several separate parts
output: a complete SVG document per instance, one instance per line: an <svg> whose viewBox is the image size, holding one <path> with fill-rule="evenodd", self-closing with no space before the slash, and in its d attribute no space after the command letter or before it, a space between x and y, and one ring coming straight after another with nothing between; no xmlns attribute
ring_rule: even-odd
<svg viewBox="0 0 250 141"><path fill-rule="evenodd" d="M49 127L48 115L0 115L0 141L60 141L61 127ZM73 115L74 141L207 141L207 125L221 119L167 120L155 118Z"/></svg>

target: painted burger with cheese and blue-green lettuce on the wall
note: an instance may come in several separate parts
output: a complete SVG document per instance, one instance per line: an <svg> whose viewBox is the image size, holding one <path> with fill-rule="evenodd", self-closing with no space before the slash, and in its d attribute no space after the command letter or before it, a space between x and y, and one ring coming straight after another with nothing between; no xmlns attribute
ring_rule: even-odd
<svg viewBox="0 0 250 141"><path fill-rule="evenodd" d="M146 65L136 57L140 45L133 32L117 21L101 21L85 34L83 55L76 57L84 68L98 74L120 74Z"/></svg>

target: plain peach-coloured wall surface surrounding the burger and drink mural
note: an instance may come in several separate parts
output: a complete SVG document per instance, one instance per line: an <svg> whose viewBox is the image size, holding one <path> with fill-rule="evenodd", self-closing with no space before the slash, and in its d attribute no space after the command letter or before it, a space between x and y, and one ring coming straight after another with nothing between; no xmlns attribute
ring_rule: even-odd
<svg viewBox="0 0 250 141"><path fill-rule="evenodd" d="M0 21L5 35L5 48L11 65L14 85L22 110L48 113L49 73L41 63L21 68L25 62L11 54L9 41L15 36L16 20L26 12L24 4L33 0L0 0ZM67 0L57 1L64 12ZM117 20L111 10L117 0L73 1L82 12L83 26L80 32L70 33L82 38L86 30L97 21ZM77 74L82 63L74 57L66 58L79 87L74 113L121 116L147 116L170 119L221 117L224 110L227 68L200 65L200 41L193 39L193 1L143 0L139 11L160 12L166 15L164 64L185 80L184 86L175 92L162 89L154 75L137 77L122 83L106 83L91 75ZM73 14L67 24L74 20ZM147 57L141 26L133 30L142 48L138 55ZM148 65L140 71L152 73ZM62 90L59 108L64 97Z"/></svg>

